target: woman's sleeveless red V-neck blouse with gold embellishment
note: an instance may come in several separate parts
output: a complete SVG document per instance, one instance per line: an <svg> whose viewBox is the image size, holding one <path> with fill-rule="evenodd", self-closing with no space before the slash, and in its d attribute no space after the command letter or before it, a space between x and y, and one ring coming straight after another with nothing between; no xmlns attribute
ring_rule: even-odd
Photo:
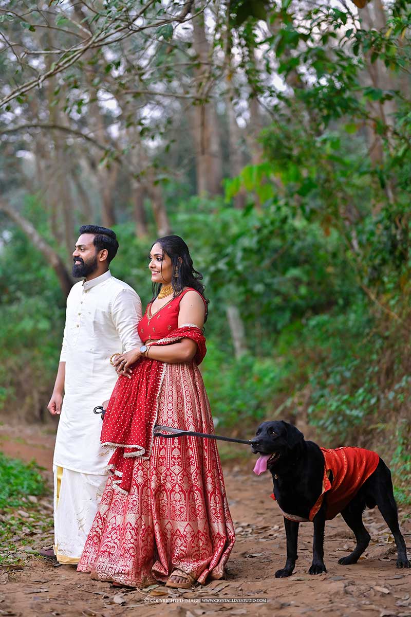
<svg viewBox="0 0 411 617"><path fill-rule="evenodd" d="M162 306L161 309L158 309L155 313L151 312L152 302L149 302L137 327L140 339L144 343L147 341L159 341L168 336L171 331L178 328L180 302L187 291L195 291L203 300L207 310L205 299L197 289L193 289L192 287L184 289L179 296L171 298L167 304Z"/></svg>

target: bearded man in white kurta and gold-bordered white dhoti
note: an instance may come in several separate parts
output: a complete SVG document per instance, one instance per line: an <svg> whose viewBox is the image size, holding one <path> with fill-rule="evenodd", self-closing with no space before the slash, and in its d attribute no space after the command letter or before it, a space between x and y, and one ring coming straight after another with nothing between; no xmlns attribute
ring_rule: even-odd
<svg viewBox="0 0 411 617"><path fill-rule="evenodd" d="M44 557L78 563L107 480L111 456L100 446L94 407L110 398L117 380L110 357L141 345L141 302L109 268L118 242L112 230L83 225L73 252L73 276L83 281L67 298L59 370L48 409L60 415L54 450L54 552ZM64 401L63 401L64 392Z"/></svg>

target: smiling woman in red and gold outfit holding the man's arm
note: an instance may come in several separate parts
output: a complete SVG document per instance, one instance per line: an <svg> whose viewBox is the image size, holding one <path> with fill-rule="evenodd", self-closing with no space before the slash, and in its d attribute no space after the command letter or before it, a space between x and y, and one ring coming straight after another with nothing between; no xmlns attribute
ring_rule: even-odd
<svg viewBox="0 0 411 617"><path fill-rule="evenodd" d="M138 330L144 345L118 354L120 375L101 440L115 449L99 511L78 565L125 586L189 588L222 578L234 545L216 442L153 438L153 426L213 433L198 363L207 316L201 274L179 236L153 244L153 300Z"/></svg>

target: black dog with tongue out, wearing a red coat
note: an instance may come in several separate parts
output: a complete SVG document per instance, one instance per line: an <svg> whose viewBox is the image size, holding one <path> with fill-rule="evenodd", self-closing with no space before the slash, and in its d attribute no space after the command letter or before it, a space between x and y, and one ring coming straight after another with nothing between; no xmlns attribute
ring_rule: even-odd
<svg viewBox="0 0 411 617"><path fill-rule="evenodd" d="M251 450L254 454L261 455L254 471L258 474L267 469L271 471L274 499L285 515L287 561L285 567L275 573L277 578L290 576L293 573L298 558L299 522L308 520L314 523L312 564L309 574L327 571L324 565L325 520L333 518L338 512L341 512L357 541L351 555L342 557L338 563L343 565L356 563L370 542L370 534L362 523L362 513L365 506L373 508L376 505L393 533L397 545L397 568L410 567L404 537L399 530L391 473L375 452L360 448L320 449L314 442L305 441L301 431L284 421L260 424L256 436L251 440ZM370 464L367 468L368 463L364 463L365 466L362 468L361 465L368 455ZM338 460L341 456L343 465L340 465ZM351 457L353 460L350 462ZM330 460L337 461L336 478L333 477L332 468L328 465ZM348 480L346 480L345 496L341 497L337 495L337 491L344 484L341 479L342 472L340 473L343 468L344 470L348 468ZM356 488L355 482L351 483L351 479L358 478L361 469L365 470L362 477L367 479L363 482L360 480ZM327 471L328 474L325 475L324 472ZM327 487L324 489L325 485L329 491Z"/></svg>

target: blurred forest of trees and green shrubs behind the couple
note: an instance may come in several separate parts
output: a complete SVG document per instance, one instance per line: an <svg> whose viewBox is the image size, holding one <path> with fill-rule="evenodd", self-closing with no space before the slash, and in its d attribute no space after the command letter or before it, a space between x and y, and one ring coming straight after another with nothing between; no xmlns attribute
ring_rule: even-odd
<svg viewBox="0 0 411 617"><path fill-rule="evenodd" d="M0 0L0 420L51 422L78 226L205 275L219 431L375 447L410 502L411 5Z"/></svg>

